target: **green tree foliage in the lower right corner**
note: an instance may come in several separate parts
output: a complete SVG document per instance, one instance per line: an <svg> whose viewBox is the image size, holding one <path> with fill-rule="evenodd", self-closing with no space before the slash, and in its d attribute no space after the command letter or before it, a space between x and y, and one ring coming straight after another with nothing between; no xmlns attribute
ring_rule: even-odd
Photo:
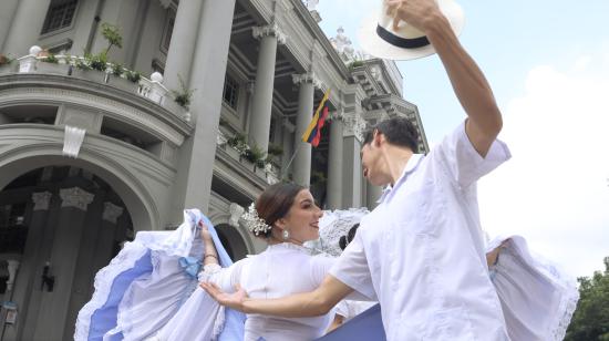
<svg viewBox="0 0 609 341"><path fill-rule="evenodd" d="M609 341L609 257L605 258L605 271L577 280L579 302L565 340Z"/></svg>

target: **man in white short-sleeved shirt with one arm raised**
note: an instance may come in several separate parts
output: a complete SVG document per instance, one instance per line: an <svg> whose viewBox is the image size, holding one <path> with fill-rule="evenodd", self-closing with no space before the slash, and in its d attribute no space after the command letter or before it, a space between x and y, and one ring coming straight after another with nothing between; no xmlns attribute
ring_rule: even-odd
<svg viewBox="0 0 609 341"><path fill-rule="evenodd" d="M386 189L317 290L250 300L242 291L225 294L202 286L231 308L285 317L322 314L355 290L380 301L389 340L508 340L488 278L476 198L476 180L509 158L496 141L500 112L434 0L389 3L396 19L433 44L467 120L426 156L414 154L416 131L405 118L368 132L363 174Z"/></svg>

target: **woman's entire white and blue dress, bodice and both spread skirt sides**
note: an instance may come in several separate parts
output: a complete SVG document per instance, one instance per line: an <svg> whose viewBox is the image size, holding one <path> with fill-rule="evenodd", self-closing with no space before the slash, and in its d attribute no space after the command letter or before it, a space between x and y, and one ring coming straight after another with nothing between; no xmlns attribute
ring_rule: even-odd
<svg viewBox="0 0 609 341"><path fill-rule="evenodd" d="M332 223L328 225L338 227L343 221L342 230L347 231L361 215L362 211L329 214L328 218L337 219L329 219ZM95 277L95 293L79 313L74 339L275 341L313 340L324 334L334 311L316 318L250 314L246 320L241 313L219 307L197 286L195 278L196 260L203 255L196 230L202 219L211 226L200 211L186 210L184 224L175 231L138 232L136 240L127 244ZM229 267L207 266L199 280L213 281L227 292L236 283L249 297L260 299L311 291L333 262L331 257L310 256L304 247L278 244L231 265L213 227L210 232L221 265ZM534 256L518 236L498 237L488 244L487 251L508 239L497 264L491 267L491 277L510 339L561 340L578 299L575 279L543 257ZM326 240L326 246L338 242L329 241ZM372 318L380 319L380 313ZM373 326L381 328L380 323ZM348 334L350 340L360 340L361 333L350 333L349 328L348 322L341 327L341 333L323 339L338 340L332 334ZM369 334L379 335L378 340L384 335L382 328Z"/></svg>

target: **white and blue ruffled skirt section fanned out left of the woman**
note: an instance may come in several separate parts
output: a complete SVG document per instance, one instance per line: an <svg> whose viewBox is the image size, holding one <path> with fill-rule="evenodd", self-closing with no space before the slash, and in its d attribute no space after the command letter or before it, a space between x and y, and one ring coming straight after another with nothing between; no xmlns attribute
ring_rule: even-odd
<svg viewBox="0 0 609 341"><path fill-rule="evenodd" d="M172 341L242 339L245 316L225 310L197 286L202 220L209 226L221 265L230 266L209 219L187 209L176 230L138 232L97 272L95 292L79 312L74 340L145 340L159 330ZM183 328L173 330L176 324Z"/></svg>

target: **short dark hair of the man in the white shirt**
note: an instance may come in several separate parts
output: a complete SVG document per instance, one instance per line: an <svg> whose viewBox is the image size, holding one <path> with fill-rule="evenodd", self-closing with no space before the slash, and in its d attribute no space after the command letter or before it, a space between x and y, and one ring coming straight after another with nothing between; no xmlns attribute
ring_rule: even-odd
<svg viewBox="0 0 609 341"><path fill-rule="evenodd" d="M386 141L393 145L419 152L419 133L409 118L393 117L376 123L364 133L363 145L372 142L374 131L385 135Z"/></svg>

